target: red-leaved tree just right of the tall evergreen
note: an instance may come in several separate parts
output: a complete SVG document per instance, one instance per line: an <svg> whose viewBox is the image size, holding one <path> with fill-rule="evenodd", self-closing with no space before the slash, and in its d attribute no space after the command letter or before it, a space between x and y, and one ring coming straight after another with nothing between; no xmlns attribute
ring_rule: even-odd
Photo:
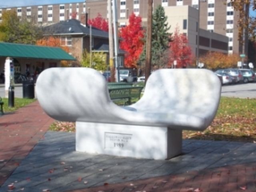
<svg viewBox="0 0 256 192"><path fill-rule="evenodd" d="M186 68L192 63L193 54L191 47L188 45L188 39L184 34L179 33L178 27L172 36L170 42L170 61L168 67L173 65L174 60L177 61L176 68Z"/></svg>

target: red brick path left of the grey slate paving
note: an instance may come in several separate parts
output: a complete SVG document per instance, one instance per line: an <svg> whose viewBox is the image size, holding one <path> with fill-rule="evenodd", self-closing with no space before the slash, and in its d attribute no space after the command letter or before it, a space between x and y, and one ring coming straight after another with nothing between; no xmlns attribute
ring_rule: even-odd
<svg viewBox="0 0 256 192"><path fill-rule="evenodd" d="M44 136L53 121L38 102L0 116L0 185Z"/></svg>

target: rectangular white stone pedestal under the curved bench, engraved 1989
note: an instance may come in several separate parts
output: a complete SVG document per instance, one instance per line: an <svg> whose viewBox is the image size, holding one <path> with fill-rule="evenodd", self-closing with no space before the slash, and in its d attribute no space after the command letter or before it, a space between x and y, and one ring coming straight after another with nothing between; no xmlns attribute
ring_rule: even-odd
<svg viewBox="0 0 256 192"><path fill-rule="evenodd" d="M182 130L167 127L76 122L76 151L168 159L181 154Z"/></svg>

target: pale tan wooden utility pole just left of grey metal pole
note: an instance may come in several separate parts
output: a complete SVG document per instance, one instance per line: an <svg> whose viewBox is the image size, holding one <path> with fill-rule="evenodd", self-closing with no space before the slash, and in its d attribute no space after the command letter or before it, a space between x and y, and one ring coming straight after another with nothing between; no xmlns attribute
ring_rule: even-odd
<svg viewBox="0 0 256 192"><path fill-rule="evenodd" d="M115 81L114 52L113 52L113 28L111 0L108 0L108 42L109 42L109 65L111 82Z"/></svg>

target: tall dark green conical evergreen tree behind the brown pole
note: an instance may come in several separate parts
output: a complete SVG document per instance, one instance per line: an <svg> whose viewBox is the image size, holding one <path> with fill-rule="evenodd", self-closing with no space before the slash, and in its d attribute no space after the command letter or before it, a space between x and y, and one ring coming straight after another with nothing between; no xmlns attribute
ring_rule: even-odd
<svg viewBox="0 0 256 192"><path fill-rule="evenodd" d="M152 18L152 58L151 64L153 68L161 68L166 65L168 57L168 48L171 41L171 33L168 32L170 26L167 22L164 8L159 5ZM145 39L146 40L146 35ZM140 57L140 64L144 64L146 60L146 43Z"/></svg>

